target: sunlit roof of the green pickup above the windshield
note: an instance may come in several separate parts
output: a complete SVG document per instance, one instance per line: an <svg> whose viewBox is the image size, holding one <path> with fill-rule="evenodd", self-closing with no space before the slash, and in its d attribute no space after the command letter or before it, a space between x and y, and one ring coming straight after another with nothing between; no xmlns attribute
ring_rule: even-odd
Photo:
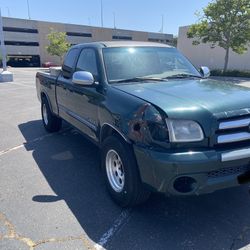
<svg viewBox="0 0 250 250"><path fill-rule="evenodd" d="M81 43L74 47L85 47L85 46L97 46L97 47L172 47L163 43L156 42L141 42L141 41L100 41L91 43Z"/></svg>

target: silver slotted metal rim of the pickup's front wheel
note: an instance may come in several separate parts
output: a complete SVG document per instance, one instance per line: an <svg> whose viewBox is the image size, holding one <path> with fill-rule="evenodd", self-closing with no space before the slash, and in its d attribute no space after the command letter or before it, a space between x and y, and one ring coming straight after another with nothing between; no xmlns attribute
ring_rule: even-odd
<svg viewBox="0 0 250 250"><path fill-rule="evenodd" d="M106 172L113 190L121 192L125 183L124 169L119 154L113 149L106 154Z"/></svg>

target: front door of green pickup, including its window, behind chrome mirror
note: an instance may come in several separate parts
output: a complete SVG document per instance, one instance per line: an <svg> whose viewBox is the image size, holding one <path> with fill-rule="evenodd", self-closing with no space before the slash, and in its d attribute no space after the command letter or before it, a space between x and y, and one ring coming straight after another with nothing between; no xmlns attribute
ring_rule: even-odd
<svg viewBox="0 0 250 250"><path fill-rule="evenodd" d="M76 62L75 71L88 71L99 81L97 53L93 48L84 48ZM95 141L98 140L98 106L102 94L96 86L82 86L67 82L67 94L63 103L65 119Z"/></svg>

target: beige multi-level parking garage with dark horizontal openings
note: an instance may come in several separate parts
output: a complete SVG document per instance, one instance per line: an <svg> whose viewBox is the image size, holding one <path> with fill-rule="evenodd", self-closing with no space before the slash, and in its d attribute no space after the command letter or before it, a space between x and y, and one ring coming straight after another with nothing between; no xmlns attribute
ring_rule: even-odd
<svg viewBox="0 0 250 250"><path fill-rule="evenodd" d="M173 41L171 34L3 17L8 64L12 66L39 66L44 62L59 64L59 59L50 56L45 49L48 45L47 35L50 28L66 32L68 41L72 45L110 40L155 41L169 44Z"/></svg>

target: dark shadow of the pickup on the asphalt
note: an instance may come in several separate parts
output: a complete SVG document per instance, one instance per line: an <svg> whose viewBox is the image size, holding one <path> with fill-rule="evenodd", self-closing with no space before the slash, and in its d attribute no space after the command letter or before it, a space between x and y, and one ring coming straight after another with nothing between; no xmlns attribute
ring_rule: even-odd
<svg viewBox="0 0 250 250"><path fill-rule="evenodd" d="M99 168L99 149L76 130L32 141L40 120L19 125L28 151L53 189L54 195L36 195L34 202L64 200L93 242L99 242L122 209L105 190ZM41 130L40 130L41 131ZM46 132L44 132L46 135ZM40 136L40 135L38 135ZM250 243L250 196L239 187L200 197L154 194L105 242L107 249L239 249Z"/></svg>

